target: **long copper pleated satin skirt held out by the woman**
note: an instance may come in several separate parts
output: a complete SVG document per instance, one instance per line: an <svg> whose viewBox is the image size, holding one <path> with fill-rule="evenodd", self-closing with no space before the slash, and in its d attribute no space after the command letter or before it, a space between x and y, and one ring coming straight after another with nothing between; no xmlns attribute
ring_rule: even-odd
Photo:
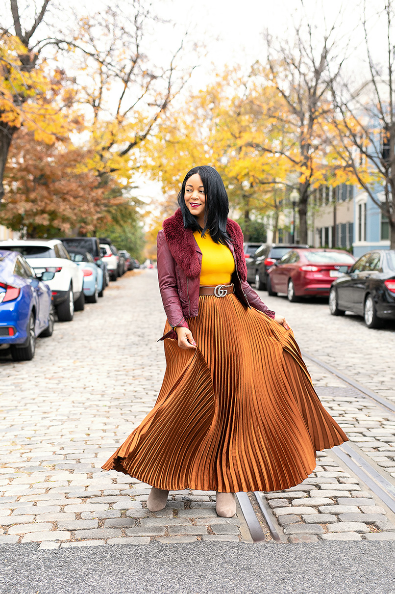
<svg viewBox="0 0 395 594"><path fill-rule="evenodd" d="M316 451L347 441L292 331L234 294L200 296L188 324L198 348L164 340L157 402L103 469L171 491L278 491L314 470Z"/></svg>

